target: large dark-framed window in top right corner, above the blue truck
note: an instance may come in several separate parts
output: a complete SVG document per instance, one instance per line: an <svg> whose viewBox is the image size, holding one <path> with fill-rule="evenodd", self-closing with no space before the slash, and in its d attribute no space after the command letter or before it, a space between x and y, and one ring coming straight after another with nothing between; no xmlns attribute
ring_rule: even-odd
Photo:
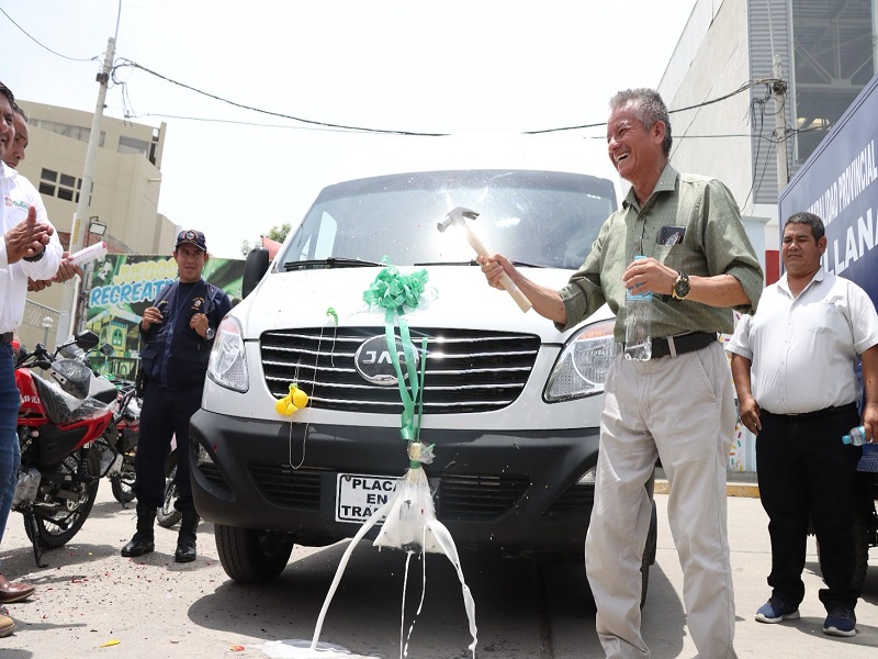
<svg viewBox="0 0 878 659"><path fill-rule="evenodd" d="M790 2L798 163L813 153L876 71L870 4Z"/></svg>

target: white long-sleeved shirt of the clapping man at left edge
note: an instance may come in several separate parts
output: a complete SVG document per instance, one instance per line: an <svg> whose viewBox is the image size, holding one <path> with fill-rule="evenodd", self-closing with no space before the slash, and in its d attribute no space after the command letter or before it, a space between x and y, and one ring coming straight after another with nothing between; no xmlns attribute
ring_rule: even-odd
<svg viewBox="0 0 878 659"><path fill-rule="evenodd" d="M27 209L36 208L36 221L48 222L46 206L40 192L18 171L0 163L0 232L2 235L27 219ZM12 332L21 325L24 315L24 300L27 295L27 278L50 279L58 271L61 260L61 244L58 232L52 234L43 250L43 258L29 263L18 260L10 265L7 257L7 243L0 236L0 334Z"/></svg>

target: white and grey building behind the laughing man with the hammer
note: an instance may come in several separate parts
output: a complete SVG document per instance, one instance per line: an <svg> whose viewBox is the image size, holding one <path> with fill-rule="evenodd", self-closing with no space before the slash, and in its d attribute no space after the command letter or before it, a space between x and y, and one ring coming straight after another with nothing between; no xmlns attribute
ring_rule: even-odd
<svg viewBox="0 0 878 659"><path fill-rule="evenodd" d="M766 221L769 281L778 192L876 74L876 25L878 0L698 0L658 86L675 166Z"/></svg>

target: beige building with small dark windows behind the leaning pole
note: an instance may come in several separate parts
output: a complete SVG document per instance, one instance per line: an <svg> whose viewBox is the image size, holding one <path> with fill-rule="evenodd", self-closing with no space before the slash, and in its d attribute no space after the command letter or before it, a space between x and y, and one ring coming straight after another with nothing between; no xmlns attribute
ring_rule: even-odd
<svg viewBox="0 0 878 659"><path fill-rule="evenodd" d="M92 113L19 100L27 114L30 144L19 171L40 190L49 220L67 246L80 196L90 192L89 216L81 219L86 245L104 239L119 254L167 254L179 227L158 213L166 124L156 129L104 116L92 190L82 172ZM103 231L99 235L99 230ZM88 284L88 282L86 282ZM67 284L72 286L72 284ZM29 293L19 336L26 346L56 345L64 286Z"/></svg>

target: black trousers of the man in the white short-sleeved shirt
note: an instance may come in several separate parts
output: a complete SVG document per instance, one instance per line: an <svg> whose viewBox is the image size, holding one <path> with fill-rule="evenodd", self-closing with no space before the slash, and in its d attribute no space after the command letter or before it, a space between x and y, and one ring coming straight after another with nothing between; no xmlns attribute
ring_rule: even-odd
<svg viewBox="0 0 878 659"><path fill-rule="evenodd" d="M854 483L863 449L844 445L842 436L859 423L856 407L809 415L763 410L759 420L756 472L772 538L772 595L792 606L804 597L801 573L810 520L828 587L820 590L820 601L828 610L854 608L859 596L853 585Z"/></svg>

